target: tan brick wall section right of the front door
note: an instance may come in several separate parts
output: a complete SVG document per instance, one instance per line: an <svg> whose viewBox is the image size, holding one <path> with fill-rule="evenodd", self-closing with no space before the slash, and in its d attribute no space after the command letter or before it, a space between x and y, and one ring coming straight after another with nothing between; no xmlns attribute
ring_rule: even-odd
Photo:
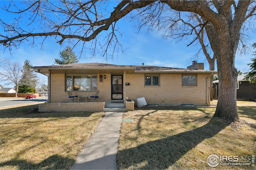
<svg viewBox="0 0 256 170"><path fill-rule="evenodd" d="M126 97L134 100L135 105L137 98L144 97L147 104L205 106L209 75L197 74L197 86L182 86L182 74L160 74L160 86L144 86L144 74L126 74L126 82L130 82L130 86L126 86Z"/></svg>

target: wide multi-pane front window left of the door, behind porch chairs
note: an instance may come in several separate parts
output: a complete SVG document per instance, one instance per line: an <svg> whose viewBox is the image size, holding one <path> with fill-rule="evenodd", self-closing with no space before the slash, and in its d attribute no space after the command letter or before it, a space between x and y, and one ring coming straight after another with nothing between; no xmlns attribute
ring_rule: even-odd
<svg viewBox="0 0 256 170"><path fill-rule="evenodd" d="M96 75L67 75L66 90L67 91L96 91L97 76Z"/></svg>

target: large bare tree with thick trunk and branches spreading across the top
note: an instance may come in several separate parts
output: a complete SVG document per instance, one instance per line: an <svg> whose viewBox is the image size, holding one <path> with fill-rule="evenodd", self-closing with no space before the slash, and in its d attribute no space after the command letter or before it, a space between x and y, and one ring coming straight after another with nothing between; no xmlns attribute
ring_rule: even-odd
<svg viewBox="0 0 256 170"><path fill-rule="evenodd" d="M31 23L40 21L39 28L36 30L29 24L26 27L20 26L20 18L12 23L0 20L6 32L0 35L0 43L8 49L17 47L24 40L34 43L35 37L52 36L57 39L57 43L62 44L64 41L73 45L82 43L83 48L88 47L85 43L90 41L92 53L102 51L103 56L108 56L113 54L111 51L120 49L116 35L117 21L136 9L150 16L146 21L142 20L142 23L148 22L154 25L159 24L160 20L153 19L161 15L175 14L174 17L176 17L179 12L197 14L204 20L202 26L206 30L210 47L217 60L220 86L214 116L228 121L239 119L236 107L238 72L234 61L241 37L240 31L246 24L246 20L255 16L254 1L121 1L115 6L113 4L117 3L116 1L26 1L25 3L28 6L25 9L18 9L12 2L10 6L6 6L5 10L13 12L15 7L15 12L20 18L24 17L24 14L31 14ZM169 14L163 12L164 7L168 7ZM170 30L183 31L175 30L177 25L174 21L170 20L170 23ZM177 33L177 35L180 34ZM100 36L106 38L99 41Z"/></svg>

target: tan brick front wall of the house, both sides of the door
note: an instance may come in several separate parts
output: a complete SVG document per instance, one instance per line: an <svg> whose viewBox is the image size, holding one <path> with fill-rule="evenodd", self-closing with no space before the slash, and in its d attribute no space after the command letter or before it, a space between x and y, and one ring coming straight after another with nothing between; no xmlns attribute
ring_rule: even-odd
<svg viewBox="0 0 256 170"><path fill-rule="evenodd" d="M111 74L103 78L100 82L98 74L98 90L100 90L99 98L96 102L111 102ZM206 95L209 101L210 79L206 88L206 78L210 74L197 74L197 86L182 86L182 74L159 74L160 86L144 86L145 74L126 74L126 81L130 83L126 86L126 97L134 101L137 105L136 99L145 97L147 104L166 104L166 105L181 105L194 104L195 106L206 105ZM68 94L65 91L65 74L51 74L51 102L70 102ZM90 96L93 92L72 92L73 95ZM87 102L92 99L88 98ZM75 99L78 102L78 99Z"/></svg>

